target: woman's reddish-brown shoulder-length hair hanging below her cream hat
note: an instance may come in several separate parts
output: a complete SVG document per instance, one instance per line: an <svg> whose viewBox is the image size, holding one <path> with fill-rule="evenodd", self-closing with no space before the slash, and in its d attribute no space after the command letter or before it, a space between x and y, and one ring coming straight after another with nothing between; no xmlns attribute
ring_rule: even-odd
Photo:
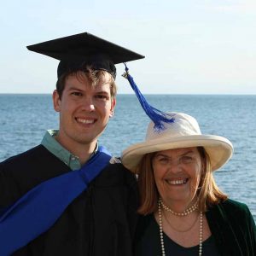
<svg viewBox="0 0 256 256"><path fill-rule="evenodd" d="M211 162L205 148L197 147L197 149L201 155L202 170L196 195L198 197L199 210L206 212L208 207L218 204L220 201L225 201L227 195L218 189L218 186L215 183ZM140 192L140 207L138 212L143 215L155 212L158 209L159 193L154 182L152 166L154 154L155 152L145 154L136 170L136 172L139 173L138 186Z"/></svg>

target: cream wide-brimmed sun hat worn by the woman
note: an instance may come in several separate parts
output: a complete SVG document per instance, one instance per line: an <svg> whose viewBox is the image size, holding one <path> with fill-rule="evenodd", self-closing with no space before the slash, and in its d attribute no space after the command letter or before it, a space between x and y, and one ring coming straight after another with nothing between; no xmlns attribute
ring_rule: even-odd
<svg viewBox="0 0 256 256"><path fill-rule="evenodd" d="M148 125L148 131L143 143L137 143L126 148L122 153L123 165L136 172L136 167L144 154L173 149L203 147L210 157L212 171L217 170L230 160L233 146L224 137L202 135L195 118L186 113L169 112L174 122L165 124L163 131L155 131L154 123Z"/></svg>

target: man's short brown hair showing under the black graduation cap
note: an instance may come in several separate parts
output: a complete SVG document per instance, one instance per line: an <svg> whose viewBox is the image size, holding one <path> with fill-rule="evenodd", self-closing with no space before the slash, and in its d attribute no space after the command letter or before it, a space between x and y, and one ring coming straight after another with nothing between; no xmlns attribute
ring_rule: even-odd
<svg viewBox="0 0 256 256"><path fill-rule="evenodd" d="M79 81L83 81L84 77L86 77L86 79L88 79L88 81L90 82L91 86L96 86L104 78L104 76L107 73L108 72L105 70L93 70L88 66L82 68L81 70L63 73L61 75L61 77L56 82L56 90L61 99L63 90L65 89L65 84L66 84L66 80L67 80L68 76L76 75L77 79L79 79ZM109 84L110 84L111 97L114 98L117 93L117 86L115 84L115 81L114 81L112 75L110 76Z"/></svg>

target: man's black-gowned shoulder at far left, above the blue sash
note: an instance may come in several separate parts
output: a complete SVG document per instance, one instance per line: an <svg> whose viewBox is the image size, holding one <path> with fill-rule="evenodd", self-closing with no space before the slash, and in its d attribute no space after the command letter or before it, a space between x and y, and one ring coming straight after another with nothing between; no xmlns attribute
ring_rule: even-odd
<svg viewBox="0 0 256 256"><path fill-rule="evenodd" d="M0 205L8 206L28 190L70 168L38 145L0 163Z"/></svg>

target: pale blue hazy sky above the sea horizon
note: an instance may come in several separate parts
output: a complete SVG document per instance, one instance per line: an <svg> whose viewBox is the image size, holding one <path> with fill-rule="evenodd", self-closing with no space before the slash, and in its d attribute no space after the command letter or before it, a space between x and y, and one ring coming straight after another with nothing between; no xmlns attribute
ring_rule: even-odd
<svg viewBox="0 0 256 256"><path fill-rule="evenodd" d="M144 94L256 94L255 0L10 0L0 13L0 93L51 93L58 61L26 45L90 32L145 55L127 63Z"/></svg>

